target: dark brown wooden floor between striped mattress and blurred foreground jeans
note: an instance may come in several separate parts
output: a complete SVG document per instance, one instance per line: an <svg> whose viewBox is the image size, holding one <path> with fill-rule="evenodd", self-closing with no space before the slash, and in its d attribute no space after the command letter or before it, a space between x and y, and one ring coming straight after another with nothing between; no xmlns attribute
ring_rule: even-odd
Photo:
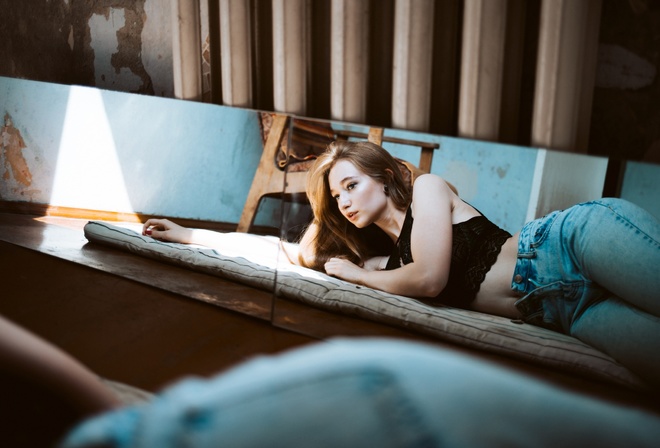
<svg viewBox="0 0 660 448"><path fill-rule="evenodd" d="M646 394L90 244L85 222L0 213L0 314L114 381L155 392L182 376L212 375L259 354L333 336L385 336L461 351L575 393L660 412Z"/></svg>

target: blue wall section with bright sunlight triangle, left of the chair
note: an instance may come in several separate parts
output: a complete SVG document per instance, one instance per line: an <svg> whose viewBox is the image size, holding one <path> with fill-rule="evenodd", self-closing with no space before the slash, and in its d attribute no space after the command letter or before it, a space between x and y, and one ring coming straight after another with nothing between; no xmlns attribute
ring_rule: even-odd
<svg viewBox="0 0 660 448"><path fill-rule="evenodd" d="M87 87L0 77L0 113L8 201L238 222L263 149L255 111Z"/></svg>

